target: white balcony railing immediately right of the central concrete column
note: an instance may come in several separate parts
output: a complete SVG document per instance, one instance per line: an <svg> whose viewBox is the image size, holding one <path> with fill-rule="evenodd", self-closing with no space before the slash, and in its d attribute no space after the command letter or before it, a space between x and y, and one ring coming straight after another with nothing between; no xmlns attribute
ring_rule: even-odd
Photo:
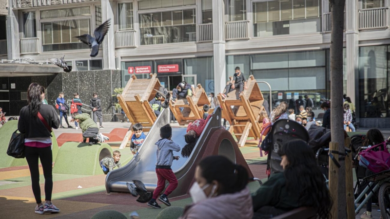
<svg viewBox="0 0 390 219"><path fill-rule="evenodd" d="M225 40L248 39L249 20L232 21L225 23Z"/></svg>

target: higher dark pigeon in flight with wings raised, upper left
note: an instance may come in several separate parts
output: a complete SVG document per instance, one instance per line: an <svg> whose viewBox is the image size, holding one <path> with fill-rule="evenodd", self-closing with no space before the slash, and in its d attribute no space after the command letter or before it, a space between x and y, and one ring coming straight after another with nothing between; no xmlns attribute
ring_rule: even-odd
<svg viewBox="0 0 390 219"><path fill-rule="evenodd" d="M104 36L106 36L108 29L110 27L110 20L106 20L106 22L102 23L98 28L95 29L94 35L95 37L92 37L89 34L84 34L81 36L78 36L78 38L81 42L87 44L89 48L92 48L91 51L91 57L96 57L99 53L99 45L104 39Z"/></svg>

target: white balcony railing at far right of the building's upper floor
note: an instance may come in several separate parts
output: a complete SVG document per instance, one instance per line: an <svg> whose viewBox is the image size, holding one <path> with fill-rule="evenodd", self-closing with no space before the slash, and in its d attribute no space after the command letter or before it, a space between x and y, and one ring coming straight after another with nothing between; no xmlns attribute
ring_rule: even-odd
<svg viewBox="0 0 390 219"><path fill-rule="evenodd" d="M359 10L359 30L387 27L388 7Z"/></svg>

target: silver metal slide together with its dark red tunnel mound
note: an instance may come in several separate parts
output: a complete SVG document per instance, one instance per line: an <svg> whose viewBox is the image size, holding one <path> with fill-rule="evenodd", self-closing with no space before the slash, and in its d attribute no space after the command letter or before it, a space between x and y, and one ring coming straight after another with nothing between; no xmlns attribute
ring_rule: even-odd
<svg viewBox="0 0 390 219"><path fill-rule="evenodd" d="M235 144L233 136L228 131L220 129L221 109L217 107L214 113L216 116L212 117L207 123L189 158L182 158L180 151L174 152L175 156L180 156L180 159L174 161L172 164L172 170L176 175L178 187L170 197L178 197L188 193L192 183L195 182L194 174L196 164L202 158L210 155L226 156L232 162L246 167L250 177L253 177L241 151ZM129 192L126 182L131 182L132 180L142 181L148 191L156 189L155 143L160 139L158 134L160 128L169 123L169 116L169 109L162 110L135 157L122 168L108 173L106 177L106 190L108 193L111 191ZM185 127L172 128L172 140L180 145L181 148L186 145L183 137L186 129Z"/></svg>

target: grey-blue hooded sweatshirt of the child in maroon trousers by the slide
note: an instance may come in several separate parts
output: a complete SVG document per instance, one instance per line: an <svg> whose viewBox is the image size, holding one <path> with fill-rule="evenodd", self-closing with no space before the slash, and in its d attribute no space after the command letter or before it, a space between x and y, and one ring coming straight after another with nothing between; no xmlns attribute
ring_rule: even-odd
<svg viewBox="0 0 390 219"><path fill-rule="evenodd" d="M155 145L157 146L156 169L170 169L174 160L173 151L180 151L180 146L166 138L158 140Z"/></svg>

